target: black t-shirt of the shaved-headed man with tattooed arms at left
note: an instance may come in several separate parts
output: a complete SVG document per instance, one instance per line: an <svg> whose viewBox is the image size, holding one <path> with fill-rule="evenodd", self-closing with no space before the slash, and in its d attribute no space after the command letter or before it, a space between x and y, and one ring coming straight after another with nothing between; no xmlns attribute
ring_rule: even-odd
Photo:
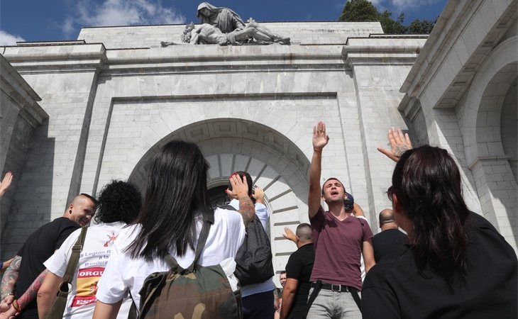
<svg viewBox="0 0 518 319"><path fill-rule="evenodd" d="M33 284L33 281L45 270L43 262L52 256L67 237L79 227L74 221L60 217L41 226L29 235L21 250L18 251L18 256L21 256L21 264L14 287L16 298L23 295ZM38 318L35 299L23 309L18 318L32 318L34 315L35 318Z"/></svg>

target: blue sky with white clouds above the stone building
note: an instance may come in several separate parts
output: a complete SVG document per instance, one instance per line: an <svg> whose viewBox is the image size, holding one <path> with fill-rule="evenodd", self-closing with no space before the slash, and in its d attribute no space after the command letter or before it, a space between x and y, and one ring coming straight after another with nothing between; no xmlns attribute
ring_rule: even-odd
<svg viewBox="0 0 518 319"><path fill-rule="evenodd" d="M0 0L0 45L17 41L76 40L87 26L198 23L193 0ZM213 0L236 11L244 21L336 21L346 0ZM373 0L404 24L434 20L447 0Z"/></svg>

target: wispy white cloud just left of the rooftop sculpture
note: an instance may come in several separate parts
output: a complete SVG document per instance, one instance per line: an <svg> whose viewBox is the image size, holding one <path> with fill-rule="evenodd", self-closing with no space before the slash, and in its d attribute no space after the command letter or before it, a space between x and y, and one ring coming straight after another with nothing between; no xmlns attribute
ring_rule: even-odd
<svg viewBox="0 0 518 319"><path fill-rule="evenodd" d="M92 1L79 0L73 5L61 28L71 35L75 28L84 26L128 26L143 24L185 23L185 17L174 7L162 6L162 0L103 0L92 6Z"/></svg>

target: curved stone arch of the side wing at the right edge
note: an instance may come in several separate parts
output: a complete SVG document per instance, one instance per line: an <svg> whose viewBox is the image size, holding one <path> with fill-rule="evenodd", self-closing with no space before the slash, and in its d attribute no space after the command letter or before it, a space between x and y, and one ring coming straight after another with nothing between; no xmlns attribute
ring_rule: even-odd
<svg viewBox="0 0 518 319"><path fill-rule="evenodd" d="M517 181L502 145L502 106L517 79L518 37L495 47L473 78L466 98L464 143L483 215L517 249ZM516 100L514 100L516 101ZM514 106L516 108L516 106Z"/></svg>

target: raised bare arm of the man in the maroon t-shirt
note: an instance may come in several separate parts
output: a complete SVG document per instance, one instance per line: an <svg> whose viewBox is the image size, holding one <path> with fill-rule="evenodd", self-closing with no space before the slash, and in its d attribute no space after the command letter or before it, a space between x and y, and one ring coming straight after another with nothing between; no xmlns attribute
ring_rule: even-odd
<svg viewBox="0 0 518 319"><path fill-rule="evenodd" d="M307 196L309 218L313 218L320 208L322 150L327 145L327 142L329 142L329 136L326 135L326 124L319 122L313 127L313 157L312 165L309 169L309 194Z"/></svg>

